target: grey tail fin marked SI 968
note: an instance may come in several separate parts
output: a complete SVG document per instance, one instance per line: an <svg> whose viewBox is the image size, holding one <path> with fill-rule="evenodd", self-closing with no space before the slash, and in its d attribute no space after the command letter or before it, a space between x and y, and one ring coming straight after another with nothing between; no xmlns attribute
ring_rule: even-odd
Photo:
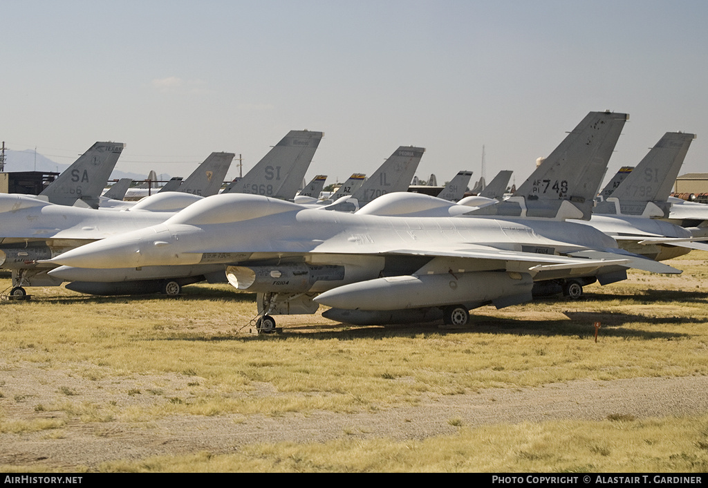
<svg viewBox="0 0 708 488"><path fill-rule="evenodd" d="M292 200L324 135L291 130L239 181L222 193L251 193Z"/></svg>

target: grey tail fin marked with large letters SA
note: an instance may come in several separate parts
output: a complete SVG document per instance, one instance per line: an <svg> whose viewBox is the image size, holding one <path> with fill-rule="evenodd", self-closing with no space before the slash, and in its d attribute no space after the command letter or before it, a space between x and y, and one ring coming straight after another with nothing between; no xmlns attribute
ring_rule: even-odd
<svg viewBox="0 0 708 488"><path fill-rule="evenodd" d="M121 142L96 142L40 195L59 205L74 205L76 200L83 200L89 206L98 208L105 183L123 148L125 144Z"/></svg>

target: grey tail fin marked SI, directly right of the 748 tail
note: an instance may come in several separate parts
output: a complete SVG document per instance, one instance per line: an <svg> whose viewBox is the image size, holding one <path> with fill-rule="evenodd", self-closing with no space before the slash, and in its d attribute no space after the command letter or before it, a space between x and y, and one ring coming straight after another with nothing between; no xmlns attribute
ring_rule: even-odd
<svg viewBox="0 0 708 488"><path fill-rule="evenodd" d="M595 213L668 217L666 201L696 136L666 132Z"/></svg>

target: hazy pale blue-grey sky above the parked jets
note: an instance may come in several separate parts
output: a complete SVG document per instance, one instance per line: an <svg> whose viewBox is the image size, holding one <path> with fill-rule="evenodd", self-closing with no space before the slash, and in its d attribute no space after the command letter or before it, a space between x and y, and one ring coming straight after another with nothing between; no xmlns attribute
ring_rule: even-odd
<svg viewBox="0 0 708 488"><path fill-rule="evenodd" d="M325 132L307 176L513 169L590 110L627 112L610 172L666 131L708 172L708 2L0 1L0 140L63 164L125 142L118 169L244 172L290 129ZM238 169L232 167L229 178ZM609 177L609 176L608 176Z"/></svg>

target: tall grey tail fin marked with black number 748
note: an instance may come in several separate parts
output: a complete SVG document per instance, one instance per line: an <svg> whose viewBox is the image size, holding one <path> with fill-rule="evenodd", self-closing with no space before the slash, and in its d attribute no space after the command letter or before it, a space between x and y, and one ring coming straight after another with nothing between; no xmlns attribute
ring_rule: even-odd
<svg viewBox="0 0 708 488"><path fill-rule="evenodd" d="M595 193L628 118L626 113L588 113L513 197L470 213L589 220Z"/></svg>

